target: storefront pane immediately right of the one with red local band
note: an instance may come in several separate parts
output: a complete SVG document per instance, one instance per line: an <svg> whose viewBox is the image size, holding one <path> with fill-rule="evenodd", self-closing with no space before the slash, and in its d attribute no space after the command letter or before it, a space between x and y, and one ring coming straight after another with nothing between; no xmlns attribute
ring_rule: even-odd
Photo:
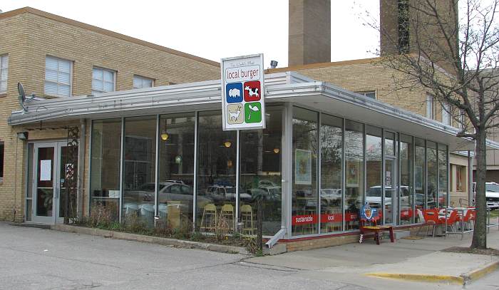
<svg viewBox="0 0 499 290"><path fill-rule="evenodd" d="M364 125L351 120L345 128L345 224L359 229L359 209L364 197Z"/></svg>

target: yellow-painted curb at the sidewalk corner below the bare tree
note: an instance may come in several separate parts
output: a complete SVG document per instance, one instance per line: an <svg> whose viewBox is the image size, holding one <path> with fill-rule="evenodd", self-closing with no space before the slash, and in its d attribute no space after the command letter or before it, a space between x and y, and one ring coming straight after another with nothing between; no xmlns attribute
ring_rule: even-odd
<svg viewBox="0 0 499 290"><path fill-rule="evenodd" d="M448 284L465 285L465 284L470 284L471 282L476 281L497 269L499 269L499 261L494 261L492 263L486 264L485 266L479 269L469 271L459 276L430 275L430 274L399 274L399 273L366 273L364 275L371 277L378 277L378 278L401 279L401 280L431 282L431 283L443 282Z"/></svg>

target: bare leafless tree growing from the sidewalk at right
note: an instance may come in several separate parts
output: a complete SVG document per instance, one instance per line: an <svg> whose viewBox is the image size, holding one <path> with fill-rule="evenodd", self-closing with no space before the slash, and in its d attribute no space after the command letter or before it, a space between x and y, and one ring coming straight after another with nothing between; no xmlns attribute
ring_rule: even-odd
<svg viewBox="0 0 499 290"><path fill-rule="evenodd" d="M475 140L471 248L485 249L485 140L499 125L499 0L383 1L394 4L397 25L370 24L380 31L380 65L399 72L399 88L426 90L443 108L453 108L454 120L461 123L458 137Z"/></svg>

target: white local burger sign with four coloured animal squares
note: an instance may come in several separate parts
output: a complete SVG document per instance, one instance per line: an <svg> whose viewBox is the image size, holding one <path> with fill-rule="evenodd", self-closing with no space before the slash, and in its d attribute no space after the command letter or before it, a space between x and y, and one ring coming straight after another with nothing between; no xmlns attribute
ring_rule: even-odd
<svg viewBox="0 0 499 290"><path fill-rule="evenodd" d="M265 128L263 54L222 58L223 130Z"/></svg>

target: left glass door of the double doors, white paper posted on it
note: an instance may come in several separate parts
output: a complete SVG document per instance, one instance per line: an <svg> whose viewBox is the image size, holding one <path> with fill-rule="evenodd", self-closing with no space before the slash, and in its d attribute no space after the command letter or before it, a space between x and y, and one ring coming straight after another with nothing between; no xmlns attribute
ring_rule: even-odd
<svg viewBox="0 0 499 290"><path fill-rule="evenodd" d="M33 166L33 222L51 224L57 216L58 204L57 143L36 143Z"/></svg>

